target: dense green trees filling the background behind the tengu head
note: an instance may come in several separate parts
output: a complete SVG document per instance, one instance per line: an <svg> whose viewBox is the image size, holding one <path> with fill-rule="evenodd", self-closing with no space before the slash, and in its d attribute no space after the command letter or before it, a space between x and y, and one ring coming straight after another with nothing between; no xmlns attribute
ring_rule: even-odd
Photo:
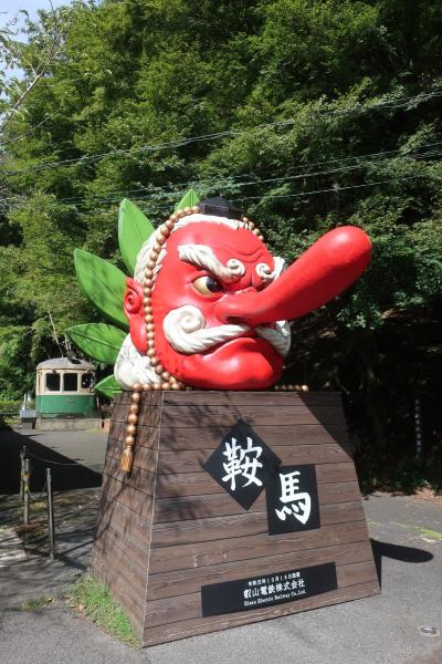
<svg viewBox="0 0 442 664"><path fill-rule="evenodd" d="M28 27L23 85L53 21ZM372 264L295 323L287 378L341 390L367 446L410 440L417 392L433 423L440 3L103 0L75 3L70 25L1 137L0 394L19 397L38 361L69 350L66 329L97 320L73 249L110 261L84 261L86 290L126 328L122 259L133 270L145 216L157 226L194 188L232 199L288 261L339 224L362 227ZM124 197L136 208L117 234Z"/></svg>

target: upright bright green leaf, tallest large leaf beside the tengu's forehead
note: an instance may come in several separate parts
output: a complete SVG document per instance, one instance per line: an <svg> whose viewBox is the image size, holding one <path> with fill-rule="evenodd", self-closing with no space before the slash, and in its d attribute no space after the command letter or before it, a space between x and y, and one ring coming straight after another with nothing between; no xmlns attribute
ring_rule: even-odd
<svg viewBox="0 0 442 664"><path fill-rule="evenodd" d="M118 242L126 268L134 274L138 251L154 232L154 226L136 205L122 200L118 216Z"/></svg>

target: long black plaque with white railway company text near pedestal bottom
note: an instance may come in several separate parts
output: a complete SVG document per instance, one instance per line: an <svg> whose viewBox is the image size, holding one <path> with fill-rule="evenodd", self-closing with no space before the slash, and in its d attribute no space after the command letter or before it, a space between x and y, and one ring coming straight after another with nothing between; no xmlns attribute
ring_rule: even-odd
<svg viewBox="0 0 442 664"><path fill-rule="evenodd" d="M219 615L294 602L337 589L336 564L285 570L201 587L202 615Z"/></svg>

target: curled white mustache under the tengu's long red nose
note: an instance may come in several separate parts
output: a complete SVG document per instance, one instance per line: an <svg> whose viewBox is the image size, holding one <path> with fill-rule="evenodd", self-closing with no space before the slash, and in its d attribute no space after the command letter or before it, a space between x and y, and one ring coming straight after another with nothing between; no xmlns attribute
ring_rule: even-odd
<svg viewBox="0 0 442 664"><path fill-rule="evenodd" d="M185 304L169 311L162 322L166 339L170 345L185 355L202 353L214 345L235 339L252 330L249 325L218 325L206 328L202 312L192 304ZM275 328L259 325L253 328L259 336L273 345L280 355L286 355L291 344L291 331L287 321L278 321Z"/></svg>

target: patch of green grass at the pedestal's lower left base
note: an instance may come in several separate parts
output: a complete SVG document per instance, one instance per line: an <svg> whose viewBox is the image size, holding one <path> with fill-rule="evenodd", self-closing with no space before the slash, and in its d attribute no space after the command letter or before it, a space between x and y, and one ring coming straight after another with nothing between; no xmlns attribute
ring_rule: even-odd
<svg viewBox="0 0 442 664"><path fill-rule="evenodd" d="M69 601L72 608L124 643L139 647L139 637L126 613L115 603L110 590L91 574L71 588Z"/></svg>

